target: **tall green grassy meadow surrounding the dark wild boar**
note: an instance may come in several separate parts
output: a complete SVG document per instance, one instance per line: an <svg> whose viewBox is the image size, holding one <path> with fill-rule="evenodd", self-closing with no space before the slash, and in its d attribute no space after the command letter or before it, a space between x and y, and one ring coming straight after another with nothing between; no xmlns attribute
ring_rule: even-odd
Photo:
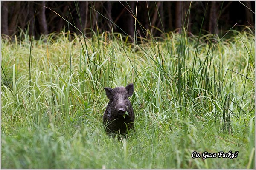
<svg viewBox="0 0 256 170"><path fill-rule="evenodd" d="M255 169L254 31L226 33L2 38L1 168ZM136 132L119 140L104 87L128 83Z"/></svg>

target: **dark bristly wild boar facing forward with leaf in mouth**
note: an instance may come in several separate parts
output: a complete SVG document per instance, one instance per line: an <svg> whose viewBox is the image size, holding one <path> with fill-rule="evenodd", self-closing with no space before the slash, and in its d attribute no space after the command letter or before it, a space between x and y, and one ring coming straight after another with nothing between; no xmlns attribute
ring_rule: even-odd
<svg viewBox="0 0 256 170"><path fill-rule="evenodd" d="M134 92L134 85L128 84L126 87L114 89L105 87L104 89L109 99L103 115L105 130L107 133L125 134L127 130L134 128L134 110L128 99Z"/></svg>

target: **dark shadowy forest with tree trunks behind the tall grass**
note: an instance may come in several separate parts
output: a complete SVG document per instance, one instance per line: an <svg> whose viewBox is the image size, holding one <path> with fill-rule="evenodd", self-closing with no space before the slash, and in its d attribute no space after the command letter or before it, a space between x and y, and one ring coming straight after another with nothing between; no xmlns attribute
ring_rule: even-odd
<svg viewBox="0 0 256 170"><path fill-rule="evenodd" d="M241 25L254 28L254 3L254 1L242 1L241 3L228 1L2 1L1 33L13 36L20 34L21 30L27 30L29 35L39 37L41 34L67 31L68 23L53 12L55 11L79 30L83 30L87 36L90 36L91 30L98 31L100 34L103 31L112 32L113 29L113 32L134 37L134 16L137 8L137 23L140 23L136 25L138 36L145 37L146 29L152 31L153 36L158 36L161 31L179 31L183 25L191 34L198 34L203 20L202 30L205 33L219 34L236 24L233 29L238 31L244 28ZM32 29L33 25L35 25L34 29ZM72 26L70 26L70 31L77 32Z"/></svg>

